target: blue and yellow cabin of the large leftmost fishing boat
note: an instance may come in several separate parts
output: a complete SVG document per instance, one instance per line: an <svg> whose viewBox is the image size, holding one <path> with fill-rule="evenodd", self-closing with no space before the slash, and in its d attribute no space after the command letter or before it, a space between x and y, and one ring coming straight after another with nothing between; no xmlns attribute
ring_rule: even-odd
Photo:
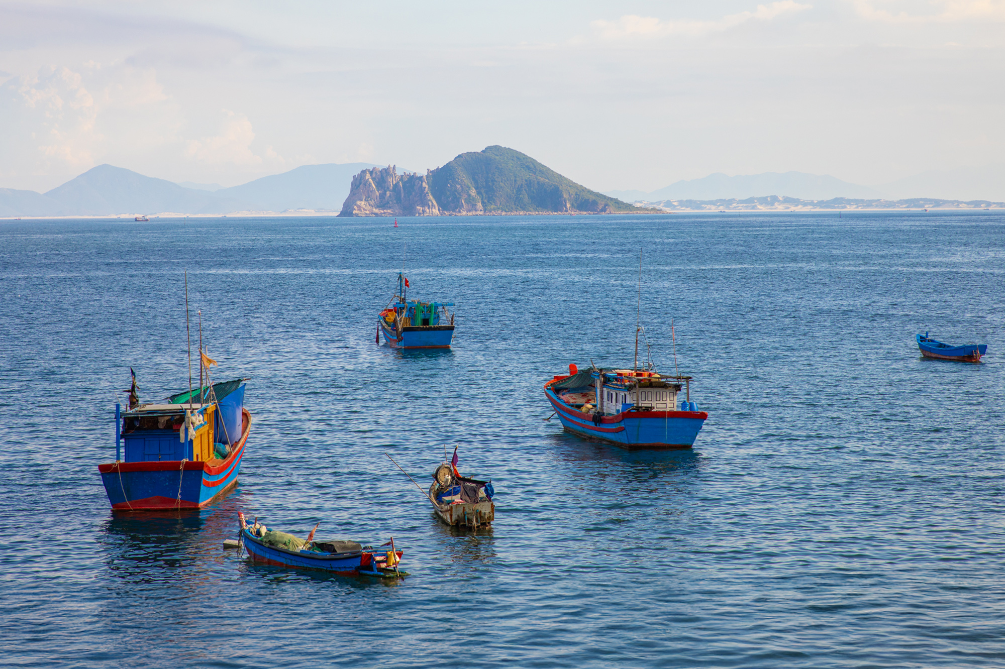
<svg viewBox="0 0 1005 669"><path fill-rule="evenodd" d="M192 402L186 392L121 413L117 416L116 459L123 462L225 459L231 446L241 438L244 381L236 379L193 391ZM209 401L210 398L215 402ZM183 430L186 424L190 427Z"/></svg>

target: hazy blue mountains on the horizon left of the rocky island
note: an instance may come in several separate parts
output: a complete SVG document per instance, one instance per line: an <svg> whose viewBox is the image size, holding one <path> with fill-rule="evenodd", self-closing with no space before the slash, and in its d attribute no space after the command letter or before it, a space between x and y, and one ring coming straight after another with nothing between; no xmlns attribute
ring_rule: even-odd
<svg viewBox="0 0 1005 669"><path fill-rule="evenodd" d="M371 163L305 165L241 186L179 184L131 170L99 165L45 194L0 189L0 216L104 216L171 212L228 214L236 211L321 209L339 211L352 178Z"/></svg>

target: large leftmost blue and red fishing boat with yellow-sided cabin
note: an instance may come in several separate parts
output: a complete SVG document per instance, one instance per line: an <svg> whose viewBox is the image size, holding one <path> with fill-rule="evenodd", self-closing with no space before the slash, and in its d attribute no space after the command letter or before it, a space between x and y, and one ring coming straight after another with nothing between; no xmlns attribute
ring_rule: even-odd
<svg viewBox="0 0 1005 669"><path fill-rule="evenodd" d="M112 508L203 508L234 487L251 429L245 381L141 404L134 375L129 409L116 405L116 461L97 465Z"/></svg>

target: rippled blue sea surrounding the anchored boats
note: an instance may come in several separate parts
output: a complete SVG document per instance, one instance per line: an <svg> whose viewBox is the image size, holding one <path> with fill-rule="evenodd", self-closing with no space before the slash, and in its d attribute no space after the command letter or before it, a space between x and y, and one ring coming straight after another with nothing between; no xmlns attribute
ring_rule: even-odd
<svg viewBox="0 0 1005 669"><path fill-rule="evenodd" d="M1005 664L1000 213L398 222L0 223L0 663ZM451 350L375 345L403 266L455 303ZM188 388L186 270L193 341L249 378L240 484L113 513L130 367L145 401ZM569 364L632 364L636 309L694 377L693 450L545 420ZM926 330L988 356L924 360ZM425 486L455 447L490 528L438 523L388 458ZM238 510L393 536L411 576L254 566L222 547Z"/></svg>

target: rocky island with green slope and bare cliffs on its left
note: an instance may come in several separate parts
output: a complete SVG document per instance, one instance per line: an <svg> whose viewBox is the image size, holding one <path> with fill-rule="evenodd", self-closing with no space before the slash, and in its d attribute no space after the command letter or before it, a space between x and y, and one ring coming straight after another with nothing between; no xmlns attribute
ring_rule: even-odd
<svg viewBox="0 0 1005 669"><path fill-rule="evenodd" d="M424 175L394 166L353 177L340 216L611 214L638 207L591 191L505 147L461 154Z"/></svg>

